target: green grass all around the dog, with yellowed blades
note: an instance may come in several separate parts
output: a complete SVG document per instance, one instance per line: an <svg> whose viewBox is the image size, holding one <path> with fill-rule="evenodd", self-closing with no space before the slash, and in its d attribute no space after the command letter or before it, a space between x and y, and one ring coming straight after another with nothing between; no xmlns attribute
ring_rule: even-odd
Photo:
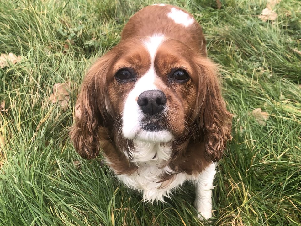
<svg viewBox="0 0 301 226"><path fill-rule="evenodd" d="M235 114L215 179L214 218L204 225L301 225L301 55L294 51L301 50L301 2L282 0L273 23L256 17L265 0L222 0L220 10L213 0L162 2L202 24ZM0 53L24 58L0 69L0 102L8 109L0 113L1 226L201 225L193 186L167 203L145 204L101 156L81 159L68 136L84 72L118 43L129 17L152 3L0 0ZM66 111L49 101L53 85L65 81ZM264 125L250 114L255 108L269 114Z"/></svg>

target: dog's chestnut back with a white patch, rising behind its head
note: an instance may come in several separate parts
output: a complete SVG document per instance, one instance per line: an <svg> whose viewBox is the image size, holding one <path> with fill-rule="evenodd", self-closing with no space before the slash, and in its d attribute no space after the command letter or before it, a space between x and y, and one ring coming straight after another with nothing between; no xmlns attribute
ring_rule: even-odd
<svg viewBox="0 0 301 226"><path fill-rule="evenodd" d="M206 40L193 16L172 5L155 4L135 13L124 26L121 40L164 34L206 56Z"/></svg>

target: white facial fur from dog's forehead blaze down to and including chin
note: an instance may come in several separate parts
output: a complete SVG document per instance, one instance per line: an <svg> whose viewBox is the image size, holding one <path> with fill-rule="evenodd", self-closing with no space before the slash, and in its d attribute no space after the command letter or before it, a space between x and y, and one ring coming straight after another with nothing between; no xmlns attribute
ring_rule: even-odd
<svg viewBox="0 0 301 226"><path fill-rule="evenodd" d="M151 132L141 130L139 121L143 118L143 112L137 104L138 96L147 90L159 90L156 87L156 71L154 59L156 51L164 36L154 35L145 40L144 45L150 54L151 65L149 70L136 82L134 88L129 92L123 111L122 132L124 137L133 140L134 138L150 142L167 142L172 139L172 134L166 130Z"/></svg>

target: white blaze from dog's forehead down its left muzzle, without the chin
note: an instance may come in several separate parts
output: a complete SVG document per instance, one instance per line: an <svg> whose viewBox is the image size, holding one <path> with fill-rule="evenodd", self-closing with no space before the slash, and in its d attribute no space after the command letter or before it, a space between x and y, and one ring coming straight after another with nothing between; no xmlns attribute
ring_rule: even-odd
<svg viewBox="0 0 301 226"><path fill-rule="evenodd" d="M156 51L163 40L163 35L154 35L144 42L145 48L150 54L151 65L149 70L136 82L134 88L129 92L125 100L122 116L122 132L128 139L135 138L140 132L140 120L142 120L144 114L137 103L139 95L146 90L159 90L155 85L156 71L154 67L154 59ZM162 137L162 139L166 138Z"/></svg>

